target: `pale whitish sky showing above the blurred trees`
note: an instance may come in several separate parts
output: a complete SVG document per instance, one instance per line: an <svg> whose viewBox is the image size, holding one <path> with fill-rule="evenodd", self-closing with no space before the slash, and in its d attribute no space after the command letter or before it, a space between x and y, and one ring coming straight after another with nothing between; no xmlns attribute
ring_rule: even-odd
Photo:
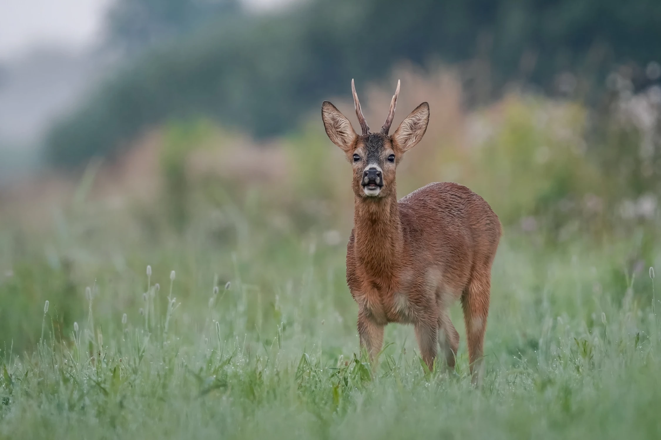
<svg viewBox="0 0 661 440"><path fill-rule="evenodd" d="M290 0L242 0L249 9L278 7ZM0 61L36 46L84 49L100 38L112 0L0 0Z"/></svg>

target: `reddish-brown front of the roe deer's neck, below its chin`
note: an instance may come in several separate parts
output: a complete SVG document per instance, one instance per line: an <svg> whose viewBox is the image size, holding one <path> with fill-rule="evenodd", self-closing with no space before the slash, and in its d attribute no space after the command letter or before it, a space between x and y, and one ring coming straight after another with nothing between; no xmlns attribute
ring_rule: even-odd
<svg viewBox="0 0 661 440"><path fill-rule="evenodd" d="M354 240L356 259L367 274L374 278L395 275L403 247L395 191L376 200L356 197Z"/></svg>

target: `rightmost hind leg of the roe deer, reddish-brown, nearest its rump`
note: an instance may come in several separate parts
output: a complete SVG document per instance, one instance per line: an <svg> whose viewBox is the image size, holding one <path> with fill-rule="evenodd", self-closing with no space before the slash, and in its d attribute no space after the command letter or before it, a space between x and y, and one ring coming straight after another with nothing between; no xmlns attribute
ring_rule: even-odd
<svg viewBox="0 0 661 440"><path fill-rule="evenodd" d="M486 317L489 313L490 285L490 267L487 267L486 270L473 273L468 287L461 296L473 383L477 383L479 375L481 375Z"/></svg>

